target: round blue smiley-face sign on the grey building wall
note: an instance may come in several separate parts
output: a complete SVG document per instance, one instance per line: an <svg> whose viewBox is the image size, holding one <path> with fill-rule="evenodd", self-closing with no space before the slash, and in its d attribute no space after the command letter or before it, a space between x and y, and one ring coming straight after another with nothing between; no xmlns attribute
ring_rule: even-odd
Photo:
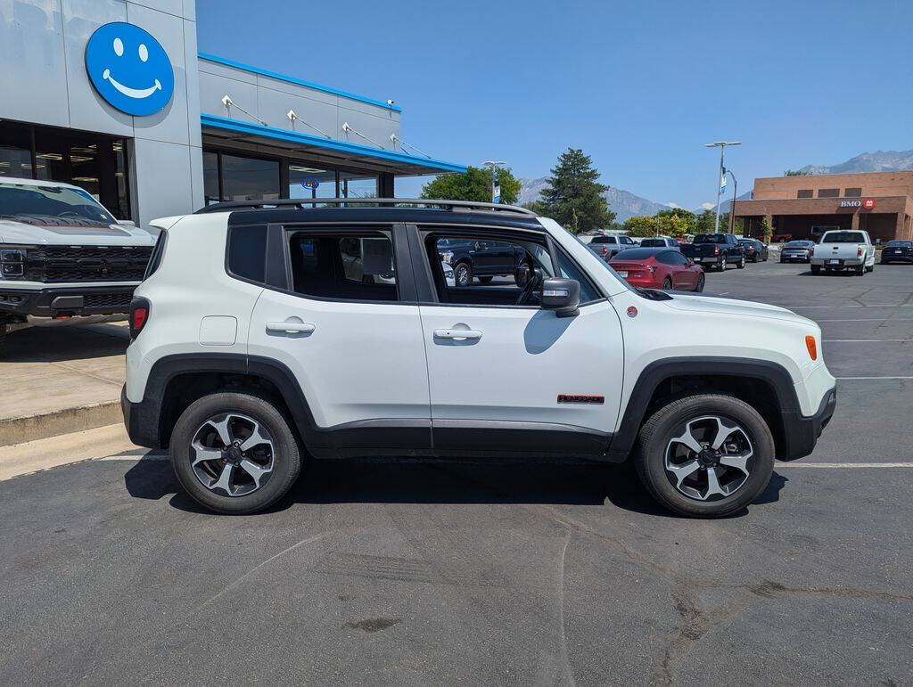
<svg viewBox="0 0 913 687"><path fill-rule="evenodd" d="M143 117L158 112L174 92L164 48L148 32L124 22L99 26L86 45L86 72L111 107Z"/></svg>

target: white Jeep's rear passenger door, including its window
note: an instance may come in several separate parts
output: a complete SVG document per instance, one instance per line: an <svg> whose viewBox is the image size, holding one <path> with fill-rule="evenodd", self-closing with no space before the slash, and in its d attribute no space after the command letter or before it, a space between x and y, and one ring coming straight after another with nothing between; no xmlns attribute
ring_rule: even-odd
<svg viewBox="0 0 913 687"><path fill-rule="evenodd" d="M263 291L248 335L252 361L290 370L318 429L404 428L387 432L379 448L430 443L425 344L407 240L396 235L403 231L285 228L288 288Z"/></svg>

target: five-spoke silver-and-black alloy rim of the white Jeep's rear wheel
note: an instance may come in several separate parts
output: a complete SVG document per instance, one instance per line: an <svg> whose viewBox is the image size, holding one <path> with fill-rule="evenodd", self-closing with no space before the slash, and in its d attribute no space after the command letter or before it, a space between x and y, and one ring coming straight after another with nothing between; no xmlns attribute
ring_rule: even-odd
<svg viewBox="0 0 913 687"><path fill-rule="evenodd" d="M211 492L244 496L268 482L275 465L273 438L257 420L237 412L215 415L190 442L194 475Z"/></svg>

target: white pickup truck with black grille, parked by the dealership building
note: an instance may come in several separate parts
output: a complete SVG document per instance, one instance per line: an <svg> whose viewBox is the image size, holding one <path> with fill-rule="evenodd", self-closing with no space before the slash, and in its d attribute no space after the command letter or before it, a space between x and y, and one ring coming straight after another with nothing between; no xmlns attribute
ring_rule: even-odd
<svg viewBox="0 0 913 687"><path fill-rule="evenodd" d="M79 186L0 177L0 349L28 325L125 318L154 244Z"/></svg>

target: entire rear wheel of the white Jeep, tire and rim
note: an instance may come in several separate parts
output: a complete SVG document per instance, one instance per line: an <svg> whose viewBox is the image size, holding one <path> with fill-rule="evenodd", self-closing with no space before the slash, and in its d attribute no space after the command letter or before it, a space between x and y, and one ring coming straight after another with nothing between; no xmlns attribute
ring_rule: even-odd
<svg viewBox="0 0 913 687"><path fill-rule="evenodd" d="M265 398L214 393L190 404L174 425L174 474L187 494L226 515L256 513L298 479L298 442Z"/></svg>

